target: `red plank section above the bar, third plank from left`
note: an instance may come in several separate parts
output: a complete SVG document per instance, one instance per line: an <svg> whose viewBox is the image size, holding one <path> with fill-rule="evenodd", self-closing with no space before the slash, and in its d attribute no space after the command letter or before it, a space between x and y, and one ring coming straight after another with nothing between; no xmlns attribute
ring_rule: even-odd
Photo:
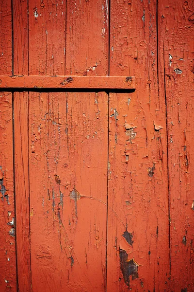
<svg viewBox="0 0 194 292"><path fill-rule="evenodd" d="M65 18L65 1L29 1L30 74L65 74Z"/></svg>

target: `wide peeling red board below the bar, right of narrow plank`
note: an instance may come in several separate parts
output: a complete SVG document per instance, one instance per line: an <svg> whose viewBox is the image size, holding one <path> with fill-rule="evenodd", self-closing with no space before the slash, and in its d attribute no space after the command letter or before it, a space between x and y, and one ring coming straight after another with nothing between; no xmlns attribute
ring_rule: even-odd
<svg viewBox="0 0 194 292"><path fill-rule="evenodd" d="M107 95L30 92L29 110L32 289L105 291Z"/></svg>

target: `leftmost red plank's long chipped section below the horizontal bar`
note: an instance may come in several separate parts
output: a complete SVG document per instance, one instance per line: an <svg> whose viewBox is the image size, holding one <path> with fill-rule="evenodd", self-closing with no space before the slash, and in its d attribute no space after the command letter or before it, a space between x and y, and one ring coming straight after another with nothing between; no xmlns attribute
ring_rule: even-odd
<svg viewBox="0 0 194 292"><path fill-rule="evenodd" d="M12 93L0 92L0 291L16 292Z"/></svg>

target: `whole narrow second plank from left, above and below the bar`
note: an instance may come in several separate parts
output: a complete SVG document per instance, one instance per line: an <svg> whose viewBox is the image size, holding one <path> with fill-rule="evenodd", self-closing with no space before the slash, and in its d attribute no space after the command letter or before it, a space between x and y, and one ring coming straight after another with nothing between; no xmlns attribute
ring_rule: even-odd
<svg viewBox="0 0 194 292"><path fill-rule="evenodd" d="M28 75L28 1L13 1L14 74ZM14 92L17 287L31 291L28 92Z"/></svg>

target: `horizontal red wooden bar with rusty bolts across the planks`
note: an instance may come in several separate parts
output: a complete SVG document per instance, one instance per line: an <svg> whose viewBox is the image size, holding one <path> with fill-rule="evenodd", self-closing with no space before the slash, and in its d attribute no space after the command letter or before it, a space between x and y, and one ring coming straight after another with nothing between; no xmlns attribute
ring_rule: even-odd
<svg viewBox="0 0 194 292"><path fill-rule="evenodd" d="M135 77L3 75L0 88L135 89Z"/></svg>

